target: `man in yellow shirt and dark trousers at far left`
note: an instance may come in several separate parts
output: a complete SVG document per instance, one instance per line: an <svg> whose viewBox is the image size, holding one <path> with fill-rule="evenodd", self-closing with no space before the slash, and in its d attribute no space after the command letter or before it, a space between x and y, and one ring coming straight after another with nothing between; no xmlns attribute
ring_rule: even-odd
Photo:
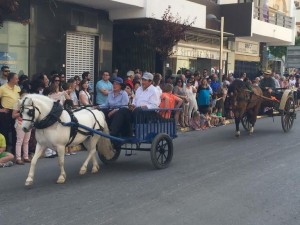
<svg viewBox="0 0 300 225"><path fill-rule="evenodd" d="M7 83L0 87L0 100L3 108L0 109L0 133L5 137L8 142L9 133L11 132L12 153L15 154L16 144L16 130L14 127L15 120L12 118L12 110L14 105L20 98L20 87L18 86L18 75L16 73L9 73L7 76Z"/></svg>

